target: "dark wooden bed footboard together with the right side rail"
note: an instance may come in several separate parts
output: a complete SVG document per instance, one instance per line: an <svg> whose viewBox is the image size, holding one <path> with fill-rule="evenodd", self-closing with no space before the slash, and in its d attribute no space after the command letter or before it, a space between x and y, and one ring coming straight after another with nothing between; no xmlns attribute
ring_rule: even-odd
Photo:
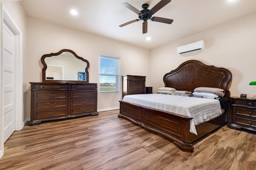
<svg viewBox="0 0 256 170"><path fill-rule="evenodd" d="M129 102L119 102L120 113L118 117L124 117L133 123L171 139L184 152L193 152L192 142L227 123L226 114L221 115L211 121L197 125L198 135L195 135L190 133L189 130L192 117L150 107L142 107Z"/></svg>

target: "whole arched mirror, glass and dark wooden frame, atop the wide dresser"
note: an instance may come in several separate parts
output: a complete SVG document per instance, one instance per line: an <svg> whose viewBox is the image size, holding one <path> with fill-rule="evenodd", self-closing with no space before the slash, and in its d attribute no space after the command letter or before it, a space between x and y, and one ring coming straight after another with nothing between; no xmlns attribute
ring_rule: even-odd
<svg viewBox="0 0 256 170"><path fill-rule="evenodd" d="M69 49L41 57L43 82L89 82L89 62Z"/></svg>

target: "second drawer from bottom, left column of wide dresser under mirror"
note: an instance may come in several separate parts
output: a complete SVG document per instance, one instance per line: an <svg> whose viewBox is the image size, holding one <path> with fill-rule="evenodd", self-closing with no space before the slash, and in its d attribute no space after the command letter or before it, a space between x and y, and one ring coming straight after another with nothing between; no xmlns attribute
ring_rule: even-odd
<svg viewBox="0 0 256 170"><path fill-rule="evenodd" d="M48 100L42 102L37 100L34 102L34 109L54 108L54 107L68 107L68 100Z"/></svg>

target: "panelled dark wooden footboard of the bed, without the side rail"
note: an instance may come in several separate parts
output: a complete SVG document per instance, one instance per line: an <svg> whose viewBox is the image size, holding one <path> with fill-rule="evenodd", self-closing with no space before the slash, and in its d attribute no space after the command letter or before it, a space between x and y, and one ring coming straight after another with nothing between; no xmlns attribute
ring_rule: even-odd
<svg viewBox="0 0 256 170"><path fill-rule="evenodd" d="M172 141L185 152L193 152L194 147L190 142L190 120L192 117L177 115L150 107L142 107L120 102L118 117L124 117L130 121L159 133Z"/></svg>

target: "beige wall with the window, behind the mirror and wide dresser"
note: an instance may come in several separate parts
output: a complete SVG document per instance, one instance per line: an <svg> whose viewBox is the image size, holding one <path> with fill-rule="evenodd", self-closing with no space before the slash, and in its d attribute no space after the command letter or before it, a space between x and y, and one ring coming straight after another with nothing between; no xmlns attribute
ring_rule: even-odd
<svg viewBox="0 0 256 170"><path fill-rule="evenodd" d="M42 82L42 63L44 54L56 53L61 49L71 49L90 63L89 82L98 83L100 53L121 58L121 74L147 76L149 55L147 49L84 33L33 18L28 18L28 65L27 92L30 109L30 86L28 82ZM77 76L74 75L74 76ZM120 93L100 94L98 90L98 109L119 107ZM28 111L28 117L30 117Z"/></svg>

